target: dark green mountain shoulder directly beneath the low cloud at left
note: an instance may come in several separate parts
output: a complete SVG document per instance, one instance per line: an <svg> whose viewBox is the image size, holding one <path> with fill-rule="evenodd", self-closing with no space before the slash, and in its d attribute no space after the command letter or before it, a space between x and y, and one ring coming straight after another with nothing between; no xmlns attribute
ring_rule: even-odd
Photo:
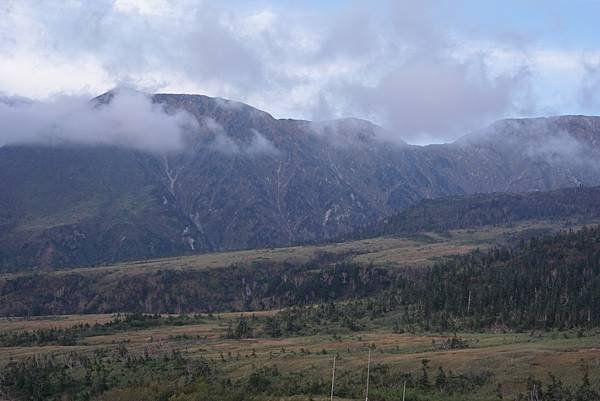
<svg viewBox="0 0 600 401"><path fill-rule="evenodd" d="M0 149L2 261L85 265L189 249L182 233L193 224L163 204L153 163L107 147Z"/></svg>

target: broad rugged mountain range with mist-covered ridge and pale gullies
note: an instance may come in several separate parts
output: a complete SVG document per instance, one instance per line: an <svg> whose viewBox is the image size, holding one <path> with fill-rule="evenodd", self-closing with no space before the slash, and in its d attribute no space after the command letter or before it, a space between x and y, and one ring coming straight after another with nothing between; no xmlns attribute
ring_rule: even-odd
<svg viewBox="0 0 600 401"><path fill-rule="evenodd" d="M198 121L182 151L0 148L3 270L321 241L422 199L600 184L598 117L503 120L414 146L364 120L275 119L200 95L152 101Z"/></svg>

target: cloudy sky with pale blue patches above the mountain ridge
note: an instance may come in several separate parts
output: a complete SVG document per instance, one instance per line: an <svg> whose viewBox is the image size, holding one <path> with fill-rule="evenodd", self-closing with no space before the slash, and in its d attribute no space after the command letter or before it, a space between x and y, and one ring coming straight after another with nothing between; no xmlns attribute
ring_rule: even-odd
<svg viewBox="0 0 600 401"><path fill-rule="evenodd" d="M599 15L596 0L3 0L0 94L201 93L448 141L600 114Z"/></svg>

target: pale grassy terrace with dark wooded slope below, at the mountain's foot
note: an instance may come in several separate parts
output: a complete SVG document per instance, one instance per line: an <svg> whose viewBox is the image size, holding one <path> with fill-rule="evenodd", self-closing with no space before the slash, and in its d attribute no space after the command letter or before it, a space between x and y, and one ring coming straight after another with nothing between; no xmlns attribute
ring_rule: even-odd
<svg viewBox="0 0 600 401"><path fill-rule="evenodd" d="M510 227L451 230L445 235L427 233L8 273L0 275L0 316L259 310L354 298L367 289L371 291L367 295L379 294L398 274L410 272L413 276L473 251L519 246L532 236L552 236L566 228L582 227L561 221L529 221Z"/></svg>

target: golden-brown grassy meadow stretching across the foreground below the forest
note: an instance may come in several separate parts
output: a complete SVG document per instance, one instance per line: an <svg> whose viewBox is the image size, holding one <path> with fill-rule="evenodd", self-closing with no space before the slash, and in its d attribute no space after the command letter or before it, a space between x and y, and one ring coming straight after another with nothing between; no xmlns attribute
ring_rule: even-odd
<svg viewBox="0 0 600 401"><path fill-rule="evenodd" d="M232 380L243 380L262 367L276 367L281 374L300 372L307 377L328 377L333 355L337 355L338 374L343 377L345 372L358 374L364 370L367 351L371 347L372 367L389 366L418 376L421 361L427 359L432 377L438 367L464 374L490 372L491 382L477 392L474 397L478 398L469 395L464 398L467 400L494 399L498 384L501 384L503 394L510 397L523 391L529 375L547 380L548 373L552 373L567 383L576 383L581 377L582 364L588 366L592 379L600 376L600 331L583 335L573 331L458 333L457 336L467 344L466 348L447 349L442 344L452 334L395 334L389 327L388 318L382 318L357 332L289 338L225 338L227 326L238 316L204 316L200 324L86 337L73 346L4 347L0 348L0 366L33 355L68 355L72 351L92 353L126 344L132 354L162 355L178 350L189 358L206 358ZM252 318L252 314L246 316ZM0 321L0 329L7 332L64 328L81 322L106 322L111 318L110 315L93 315L52 316L32 321L5 319ZM327 331L324 328L323 332Z"/></svg>

